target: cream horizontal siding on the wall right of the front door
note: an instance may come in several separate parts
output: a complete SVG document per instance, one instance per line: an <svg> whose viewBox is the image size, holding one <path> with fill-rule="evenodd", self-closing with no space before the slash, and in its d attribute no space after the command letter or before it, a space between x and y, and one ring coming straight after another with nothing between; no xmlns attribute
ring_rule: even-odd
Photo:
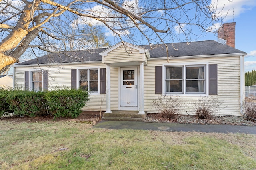
<svg viewBox="0 0 256 170"><path fill-rule="evenodd" d="M210 95L216 97L222 102L224 109L220 110L217 115L238 115L240 116L240 56L238 57L212 57L202 59L170 59L170 63L188 65L190 63L208 63L218 64L218 95ZM152 99L156 99L159 95L155 94L155 66L166 64L164 60L150 60L148 66L144 68L144 108L148 113L158 113L151 105ZM208 70L206 73L208 76ZM164 80L163 80L164 83ZM208 85L208 82L206 82ZM176 96L175 94L173 95ZM179 96L186 107L182 114L194 114L192 102L196 101L200 96Z"/></svg>

